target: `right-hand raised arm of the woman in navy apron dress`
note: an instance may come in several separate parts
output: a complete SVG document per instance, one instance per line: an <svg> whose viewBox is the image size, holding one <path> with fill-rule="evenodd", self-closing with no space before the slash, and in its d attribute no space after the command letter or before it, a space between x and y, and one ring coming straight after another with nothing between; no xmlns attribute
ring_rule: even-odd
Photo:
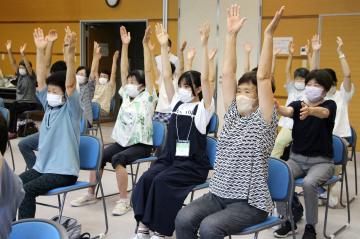
<svg viewBox="0 0 360 239"><path fill-rule="evenodd" d="M200 28L200 41L204 51L203 69L201 72L201 90L202 90L205 109L210 108L212 97L214 96L214 88L211 87L209 80L209 50L208 50L209 35L210 35L210 24L207 23Z"/></svg>

